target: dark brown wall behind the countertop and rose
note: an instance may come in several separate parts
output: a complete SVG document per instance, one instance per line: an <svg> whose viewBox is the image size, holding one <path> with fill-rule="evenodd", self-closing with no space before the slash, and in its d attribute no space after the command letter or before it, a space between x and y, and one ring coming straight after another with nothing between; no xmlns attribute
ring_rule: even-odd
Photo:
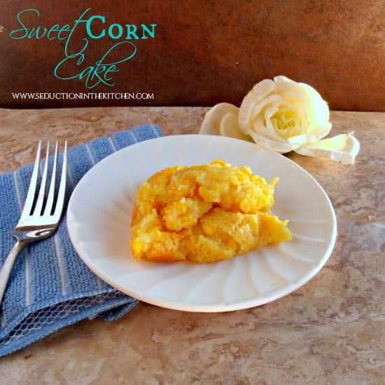
<svg viewBox="0 0 385 385"><path fill-rule="evenodd" d="M52 74L64 57L64 41L8 37L22 9L41 13L26 18L30 27L50 27L72 24L87 7L90 15L105 15L107 25L158 25L155 39L138 41L137 55L120 66L115 87L90 91L148 91L155 99L13 100L11 92L87 92L83 82ZM255 82L284 74L316 87L332 109L385 111L384 0L8 0L0 1L0 10L3 107L239 104ZM91 41L87 62L112 44L109 38Z"/></svg>

